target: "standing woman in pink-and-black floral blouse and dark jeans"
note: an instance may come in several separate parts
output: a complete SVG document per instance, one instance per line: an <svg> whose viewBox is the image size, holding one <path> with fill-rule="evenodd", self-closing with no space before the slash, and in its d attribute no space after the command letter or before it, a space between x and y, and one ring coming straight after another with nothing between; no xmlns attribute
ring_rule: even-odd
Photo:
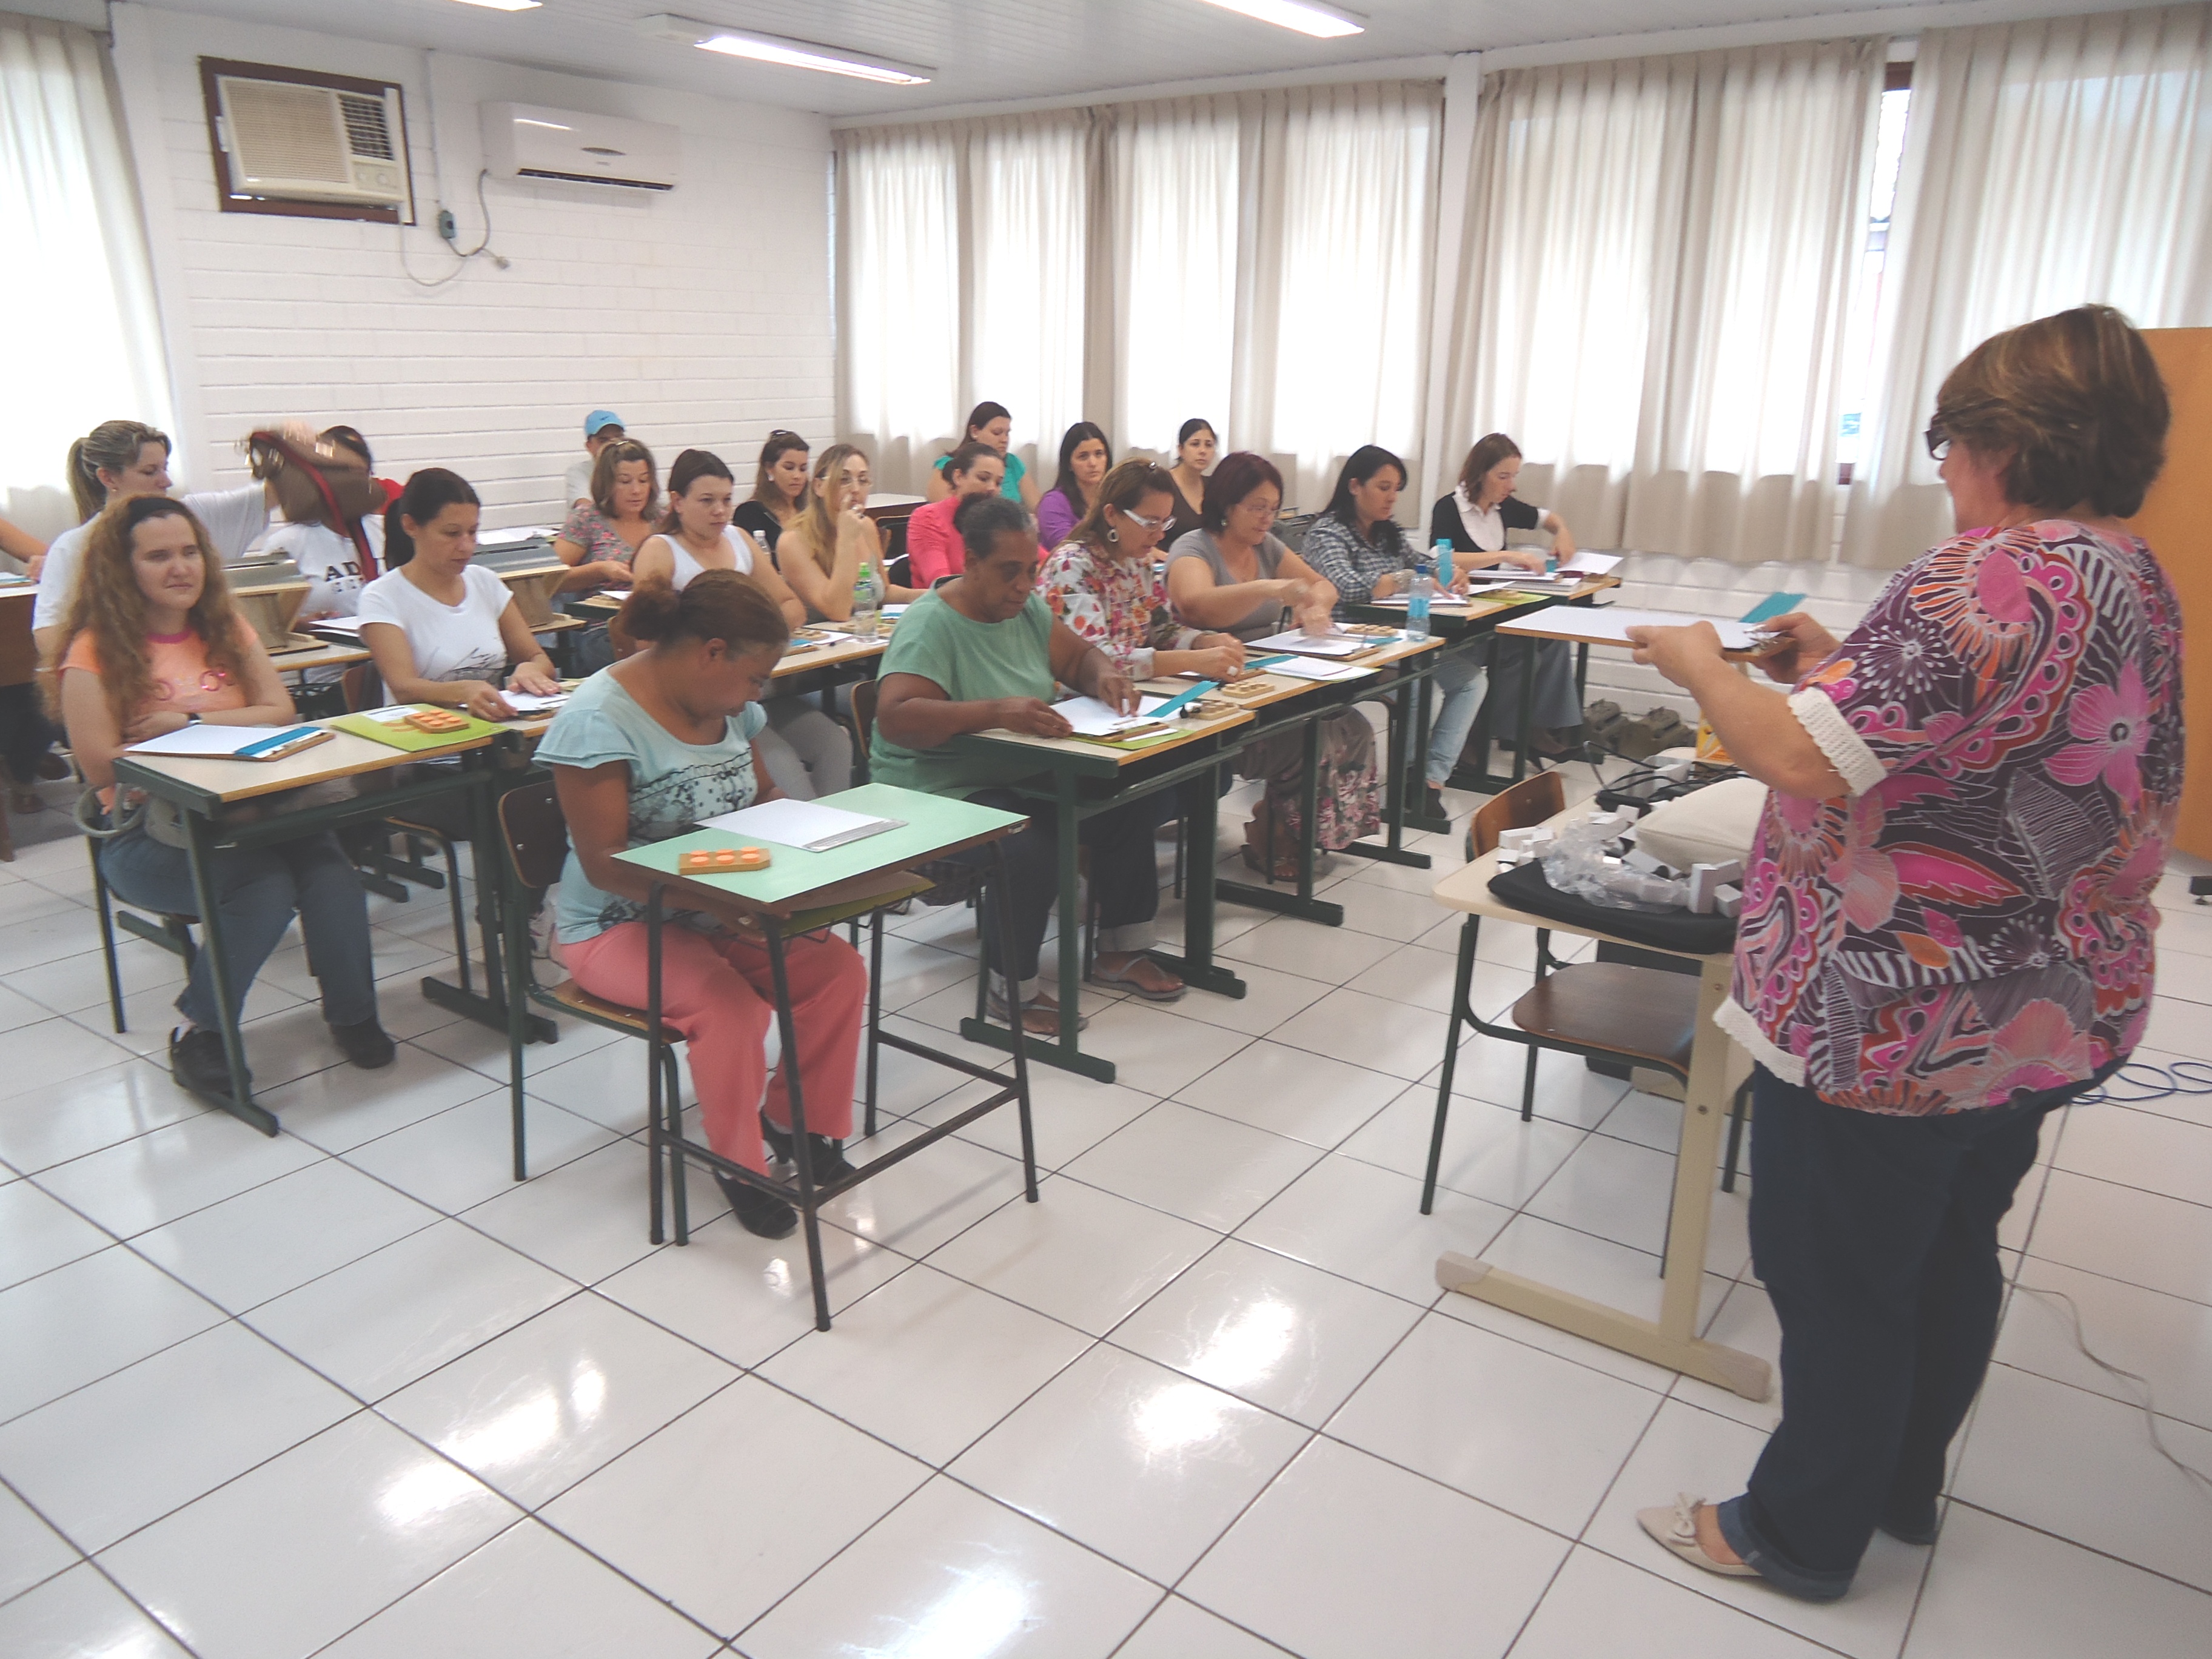
<svg viewBox="0 0 2212 1659"><path fill-rule="evenodd" d="M2104 305L1951 369L1929 453L1960 533L1761 690L1703 624L1637 628L1774 790L1721 1026L1759 1062L1752 1263L1785 1416L1725 1504L1644 1526L1712 1573L1843 1595L1876 1528L1933 1542L1997 1332L1997 1223L2042 1119L2143 1035L2181 801L2181 615L2124 524L2168 398Z"/></svg>

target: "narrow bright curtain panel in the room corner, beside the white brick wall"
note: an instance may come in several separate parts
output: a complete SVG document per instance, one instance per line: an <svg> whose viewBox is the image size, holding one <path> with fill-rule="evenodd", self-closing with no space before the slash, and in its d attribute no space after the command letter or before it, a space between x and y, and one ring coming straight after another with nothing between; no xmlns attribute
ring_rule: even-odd
<svg viewBox="0 0 2212 1659"><path fill-rule="evenodd" d="M960 150L951 128L838 146L838 427L878 487L918 484L960 398ZM823 447L823 445L816 445Z"/></svg>

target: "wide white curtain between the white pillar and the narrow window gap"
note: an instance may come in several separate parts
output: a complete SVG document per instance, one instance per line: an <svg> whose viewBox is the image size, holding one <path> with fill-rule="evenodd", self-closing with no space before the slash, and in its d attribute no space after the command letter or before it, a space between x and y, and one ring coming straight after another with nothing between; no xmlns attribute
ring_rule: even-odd
<svg viewBox="0 0 2212 1659"><path fill-rule="evenodd" d="M1882 46L1498 75L1431 489L1506 431L1593 546L1825 557Z"/></svg>

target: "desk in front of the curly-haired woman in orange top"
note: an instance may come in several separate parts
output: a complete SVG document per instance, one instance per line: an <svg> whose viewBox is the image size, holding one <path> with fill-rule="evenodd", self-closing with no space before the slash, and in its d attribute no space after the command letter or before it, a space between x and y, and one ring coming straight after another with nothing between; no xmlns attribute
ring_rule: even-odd
<svg viewBox="0 0 2212 1659"><path fill-rule="evenodd" d="M327 743L299 750L281 761L190 761L159 754L133 754L128 750L115 757L117 790L144 790L150 796L170 801L184 818L186 856L192 867L192 894L199 907L201 949L210 953L208 967L215 980L215 1000L223 1018L223 1055L230 1062L232 1077L230 1099L215 1099L212 1104L223 1106L228 1113L252 1124L263 1135L276 1133L276 1117L268 1108L254 1104L252 1088L246 1084L246 1042L239 1035L239 1022L232 1013L230 962L223 956L223 922L221 911L215 905L210 856L217 849L250 849L274 841L294 841L321 830L338 830L349 823L385 818L396 807L442 799L453 792L467 792L473 796L478 810L478 845L495 847L498 825L493 823L489 787L489 781L495 774L489 765L484 765L484 759L493 745L509 741L511 739L504 732L473 732L462 734L458 741L436 750L407 752L352 732L332 732ZM259 801L261 796L270 796L281 790L358 779L411 765L416 761L445 759L462 759L465 770L456 776L418 779L400 783L392 790L352 794L343 801L307 805L296 812L283 812L254 823L219 823L226 807ZM491 909L484 911L487 916L495 914L500 905L498 872L502 863L504 860L498 858L484 858L478 865L478 883L491 883L491 894L487 898ZM100 920L102 929L106 929L106 889L102 889L100 896ZM491 984L489 998L478 998L436 978L422 980L422 993L440 1006L458 1009L482 1024L504 1031L509 1024L509 1006L507 993L500 989L498 931L489 925L484 927L484 978ZM119 1006L122 987L115 980L113 949L108 951L108 991Z"/></svg>

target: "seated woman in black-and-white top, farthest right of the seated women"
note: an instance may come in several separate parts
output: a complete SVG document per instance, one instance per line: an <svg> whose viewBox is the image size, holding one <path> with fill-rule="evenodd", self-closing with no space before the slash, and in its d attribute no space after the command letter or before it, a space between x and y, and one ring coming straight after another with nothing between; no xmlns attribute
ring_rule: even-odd
<svg viewBox="0 0 2212 1659"><path fill-rule="evenodd" d="M1460 568L1513 566L1544 573L1546 555L1528 549L1506 549L1509 533L1542 531L1551 535L1551 557L1566 564L1575 557L1575 538L1566 522L1542 507L1513 495L1520 482L1520 447L1493 431L1467 451L1460 484L1429 513L1429 544L1451 542ZM1469 657L1491 670L1491 732L1511 741L1520 732L1520 681L1535 648L1535 719L1528 734L1537 754L1562 757L1573 750L1573 732L1582 726L1582 692L1575 690L1575 653L1564 639L1484 639ZM1480 710L1482 703L1478 701ZM1464 741L1464 732L1462 739ZM1489 757L1480 757L1489 763Z"/></svg>

